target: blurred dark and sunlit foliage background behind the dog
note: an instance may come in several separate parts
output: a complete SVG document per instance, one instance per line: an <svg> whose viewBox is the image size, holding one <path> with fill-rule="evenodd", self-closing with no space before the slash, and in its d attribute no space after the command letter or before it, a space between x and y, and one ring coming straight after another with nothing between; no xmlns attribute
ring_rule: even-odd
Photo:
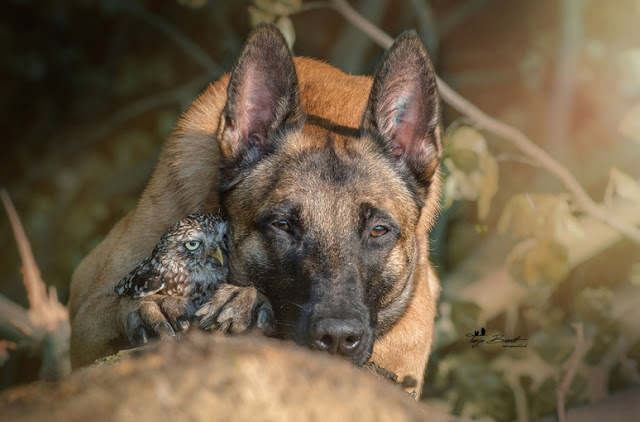
<svg viewBox="0 0 640 422"><path fill-rule="evenodd" d="M640 224L640 1L349 3L393 37L415 28L453 89L524 132L612 219ZM2 2L0 186L63 303L73 269L135 206L181 113L231 69L255 23L275 21L297 55L374 72L383 50L325 6ZM640 391L640 246L512 143L446 105L444 116L446 208L432 235L444 292L424 399L540 420L556 412L568 365L569 407ZM0 294L28 307L0 214ZM481 328L526 347L471 347ZM37 354L1 346L0 389L38 378Z"/></svg>

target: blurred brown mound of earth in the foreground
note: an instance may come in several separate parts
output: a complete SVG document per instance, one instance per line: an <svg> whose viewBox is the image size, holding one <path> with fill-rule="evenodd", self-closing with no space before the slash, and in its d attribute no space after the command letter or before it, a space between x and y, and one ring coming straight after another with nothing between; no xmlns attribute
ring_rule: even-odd
<svg viewBox="0 0 640 422"><path fill-rule="evenodd" d="M426 407L398 385L342 359L253 335L199 333L59 383L4 392L0 414L65 422L427 420Z"/></svg>

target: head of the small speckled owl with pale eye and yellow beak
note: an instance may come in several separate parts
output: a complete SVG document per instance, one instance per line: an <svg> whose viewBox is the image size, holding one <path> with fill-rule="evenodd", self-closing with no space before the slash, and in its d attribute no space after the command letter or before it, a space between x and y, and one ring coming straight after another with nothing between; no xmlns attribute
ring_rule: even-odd
<svg viewBox="0 0 640 422"><path fill-rule="evenodd" d="M180 262L191 271L209 271L228 267L228 223L220 214L191 214L171 226L160 243L167 257Z"/></svg>

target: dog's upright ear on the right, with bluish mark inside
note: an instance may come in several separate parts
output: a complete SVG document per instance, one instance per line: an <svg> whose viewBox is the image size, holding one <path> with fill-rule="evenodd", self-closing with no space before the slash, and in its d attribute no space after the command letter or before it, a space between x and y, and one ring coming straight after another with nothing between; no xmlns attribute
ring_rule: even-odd
<svg viewBox="0 0 640 422"><path fill-rule="evenodd" d="M442 156L440 100L429 56L414 31L386 52L373 81L360 131L382 142L421 184L429 184Z"/></svg>

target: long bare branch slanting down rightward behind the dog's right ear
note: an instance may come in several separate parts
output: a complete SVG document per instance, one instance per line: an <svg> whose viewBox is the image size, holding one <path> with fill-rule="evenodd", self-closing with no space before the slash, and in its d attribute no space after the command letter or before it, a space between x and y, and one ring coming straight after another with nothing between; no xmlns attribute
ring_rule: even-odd
<svg viewBox="0 0 640 422"><path fill-rule="evenodd" d="M346 0L330 0L330 2L334 10L338 11L345 19L351 22L351 24L367 34L367 36L369 36L378 45L383 48L389 48L391 46L393 39L380 28L363 18L346 2ZM471 118L477 127L492 132L511 142L519 148L520 151L531 157L534 161L539 162L547 169L547 171L556 176L556 178L560 180L569 192L573 194L585 213L606 223L624 234L627 238L640 244L640 230L625 224L624 222L611 218L604 208L596 204L591 197L589 197L584 188L566 167L562 166L543 149L534 144L524 133L487 115L454 91L439 77L438 90L442 99L447 104Z"/></svg>

